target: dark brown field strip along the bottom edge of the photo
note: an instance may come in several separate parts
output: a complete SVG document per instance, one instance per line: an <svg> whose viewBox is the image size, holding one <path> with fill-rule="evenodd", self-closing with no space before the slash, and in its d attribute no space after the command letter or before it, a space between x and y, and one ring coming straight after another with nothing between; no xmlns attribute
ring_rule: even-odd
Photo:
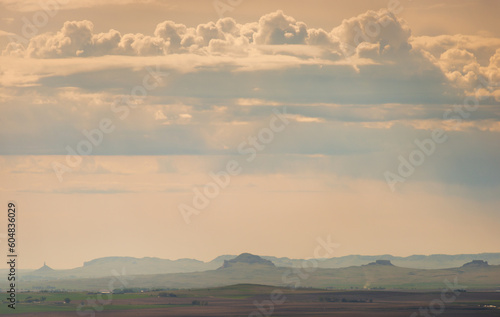
<svg viewBox="0 0 500 317"><path fill-rule="evenodd" d="M272 291L272 289L270 289ZM461 293L454 302L445 304L442 311L435 306L434 312L429 310L433 300L441 298L441 292L401 292L401 291L312 291L284 290L286 301L272 308L265 306L264 312L258 311L255 302L270 300L270 292L252 295L245 298L222 298L220 296L186 296L160 298L151 296L137 299L115 299L112 305L127 305L131 309L104 310L95 316L132 317L132 316L500 316L500 309L482 307L487 303L500 304L498 292L466 292ZM196 294L193 294L196 295ZM451 296L450 293L447 294ZM238 297L238 296L235 296ZM336 302L320 301L320 298L336 299ZM366 300L366 302L342 302L346 300ZM369 299L372 302L369 302ZM193 300L207 301L207 306L194 306ZM134 309L136 305L158 305L161 308ZM186 306L175 306L186 305ZM428 315L419 314L419 308L426 308ZM111 307L109 307L111 308ZM272 311L271 311L272 310ZM413 315L412 315L413 314ZM44 312L15 314L15 316L78 316L71 312ZM92 316L90 313L80 316Z"/></svg>

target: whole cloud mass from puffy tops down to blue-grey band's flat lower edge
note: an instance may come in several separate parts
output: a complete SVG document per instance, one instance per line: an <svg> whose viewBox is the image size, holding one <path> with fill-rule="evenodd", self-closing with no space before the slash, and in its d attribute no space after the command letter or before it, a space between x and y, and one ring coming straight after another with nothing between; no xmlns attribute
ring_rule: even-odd
<svg viewBox="0 0 500 317"><path fill-rule="evenodd" d="M374 146L374 138L401 133L411 144L415 133L436 127L496 135L494 108L476 111L460 129L442 119L482 77L500 80L500 50L484 49L480 37L465 39L480 43L438 38L426 45L386 11L368 11L331 31L282 11L246 24L163 21L152 34L98 33L90 21L68 21L26 49L4 51L17 56L0 57L1 149L65 154L65 146L82 140L83 129L111 118L116 132L95 155L227 154L278 106L288 106L290 121L300 127L290 129L286 145L273 146L280 154L366 155L389 146ZM349 46L352 55L342 50ZM483 62L478 54L487 51ZM140 86L148 67L169 73L169 81L120 120L111 104ZM495 88L483 93L500 97ZM16 126L19 120L25 124ZM342 140L353 133L352 144Z"/></svg>

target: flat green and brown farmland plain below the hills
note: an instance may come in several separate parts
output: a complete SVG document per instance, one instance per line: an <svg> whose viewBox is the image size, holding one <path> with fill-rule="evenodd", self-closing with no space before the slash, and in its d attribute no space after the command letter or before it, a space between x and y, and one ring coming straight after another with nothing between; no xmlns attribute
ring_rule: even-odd
<svg viewBox="0 0 500 317"><path fill-rule="evenodd" d="M500 293L440 291L291 290L264 285L129 294L20 293L15 314L5 316L500 316ZM26 303L40 299L43 302ZM64 303L65 298L71 302ZM83 304L83 305L82 305ZM92 306L93 304L93 306ZM491 306L491 307L485 307ZM495 307L496 306L496 307ZM421 312L419 313L419 310Z"/></svg>

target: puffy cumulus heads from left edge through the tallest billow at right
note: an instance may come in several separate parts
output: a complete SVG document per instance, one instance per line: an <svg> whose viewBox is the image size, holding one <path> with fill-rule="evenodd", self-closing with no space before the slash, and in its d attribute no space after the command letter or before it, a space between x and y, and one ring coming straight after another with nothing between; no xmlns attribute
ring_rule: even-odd
<svg viewBox="0 0 500 317"><path fill-rule="evenodd" d="M331 32L308 28L304 22L276 11L262 16L258 22L238 24L233 18L187 27L173 21L156 26L152 35L121 34L117 30L94 33L91 21L67 21L55 33L32 38L25 57L61 58L102 55L167 55L176 53L244 55L251 46L307 45L321 46L324 58L338 59L341 46L359 48L362 56L408 51L410 30L406 24L387 11L369 11L344 22ZM366 50L369 48L370 52ZM20 44L9 44L4 55L23 55Z"/></svg>

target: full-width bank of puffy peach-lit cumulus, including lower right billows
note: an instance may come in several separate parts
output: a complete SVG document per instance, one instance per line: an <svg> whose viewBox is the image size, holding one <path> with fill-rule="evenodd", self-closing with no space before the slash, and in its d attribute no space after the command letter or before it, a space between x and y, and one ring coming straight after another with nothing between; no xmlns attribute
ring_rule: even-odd
<svg viewBox="0 0 500 317"><path fill-rule="evenodd" d="M310 28L276 11L246 24L229 17L194 27L163 21L152 34L122 34L114 29L96 33L91 21L67 21L59 31L35 36L27 46L9 43L3 55L34 59L173 55L181 59L189 54L190 59L208 57L205 64L219 61L246 70L256 70L257 64L269 69L297 63L321 67L344 63L358 73L362 65L384 65L364 71L376 72L370 76L384 74L390 80L430 76L436 83L447 81L441 83L471 94L483 77L500 79L498 49L500 39L481 36L412 37L407 23L388 10L345 19L331 31ZM245 62L251 65L242 66ZM494 89L482 93L500 95Z"/></svg>

